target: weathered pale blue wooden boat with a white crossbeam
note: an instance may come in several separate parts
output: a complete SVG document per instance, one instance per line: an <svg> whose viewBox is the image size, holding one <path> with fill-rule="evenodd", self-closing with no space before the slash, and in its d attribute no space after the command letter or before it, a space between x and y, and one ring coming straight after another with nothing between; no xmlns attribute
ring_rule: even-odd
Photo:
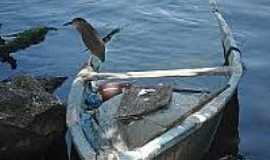
<svg viewBox="0 0 270 160"><path fill-rule="evenodd" d="M81 159L198 160L208 151L224 106L235 93L243 73L240 50L231 30L219 12L216 1L209 0L209 3L221 31L225 66L127 73L97 73L87 66L80 71L69 94L67 126L68 135ZM97 80L201 75L224 76L227 81L223 87L210 90L210 93L172 89L170 103L160 108L150 105L148 111L151 112L147 112L147 109L141 111L141 108L132 111L130 106L136 105L129 106L133 100L126 92L114 96L94 110L87 109L85 105L87 88ZM151 89L150 92L158 90ZM133 88L138 97L147 90L149 88ZM132 94L132 91L128 92ZM147 101L147 98L143 100Z"/></svg>

